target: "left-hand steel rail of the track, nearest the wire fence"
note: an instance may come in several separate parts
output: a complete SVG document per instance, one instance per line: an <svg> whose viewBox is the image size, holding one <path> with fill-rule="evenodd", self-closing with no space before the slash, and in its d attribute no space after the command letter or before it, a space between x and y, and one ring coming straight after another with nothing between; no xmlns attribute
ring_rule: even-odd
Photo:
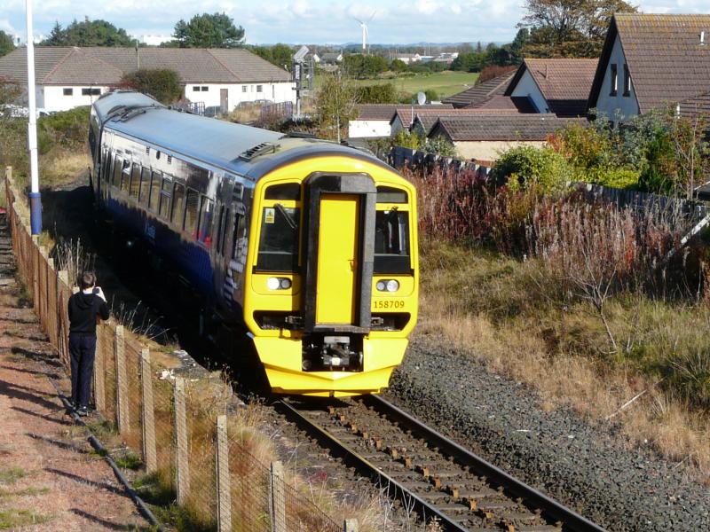
<svg viewBox="0 0 710 532"><path fill-rule="evenodd" d="M438 524L446 530L446 532L469 532L469 528L464 528L447 516L446 513L439 512L435 506L430 505L421 497L417 497L404 485L395 481L388 474L380 471L376 465L371 464L366 458L361 457L357 452L351 450L343 442L340 442L333 434L329 434L326 430L313 423L306 418L294 406L288 403L287 400L281 400L274 403L277 408L285 410L289 416L296 420L299 426L303 426L306 430L324 442L330 449L339 451L345 460L355 465L360 473L366 474L373 479L376 485L387 491L387 497L398 499L407 509L417 512L425 522L436 517Z"/></svg>

